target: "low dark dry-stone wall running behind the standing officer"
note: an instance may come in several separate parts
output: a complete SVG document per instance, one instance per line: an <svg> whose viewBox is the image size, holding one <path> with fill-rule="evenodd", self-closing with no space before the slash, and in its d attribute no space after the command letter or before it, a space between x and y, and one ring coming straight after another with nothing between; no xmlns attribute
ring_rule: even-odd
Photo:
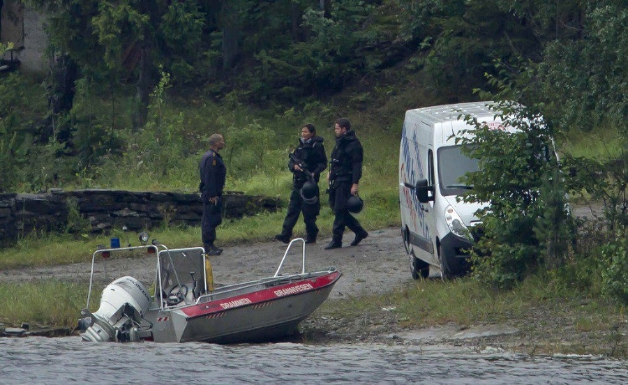
<svg viewBox="0 0 628 385"><path fill-rule="evenodd" d="M225 193L223 218L276 211L275 198ZM142 231L160 225L200 226L199 194L124 190L51 190L45 194L0 194L0 244L7 246L31 232Z"/></svg>

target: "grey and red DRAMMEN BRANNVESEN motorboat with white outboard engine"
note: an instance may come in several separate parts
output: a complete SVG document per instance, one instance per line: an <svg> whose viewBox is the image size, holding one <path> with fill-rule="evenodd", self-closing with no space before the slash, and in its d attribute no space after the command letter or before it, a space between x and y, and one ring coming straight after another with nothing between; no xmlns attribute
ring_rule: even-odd
<svg viewBox="0 0 628 385"><path fill-rule="evenodd" d="M144 242L148 234L143 232ZM301 271L282 273L290 248L302 244ZM130 276L103 290L100 307L88 310L98 256L145 249L156 255L154 294ZM298 252L296 253L298 255ZM100 248L91 259L87 305L77 329L84 341L264 342L297 330L329 296L341 272L334 267L306 272L306 243L290 241L278 269L267 278L214 287L204 248L170 249L153 241L142 246ZM217 285L216 285L217 286Z"/></svg>

